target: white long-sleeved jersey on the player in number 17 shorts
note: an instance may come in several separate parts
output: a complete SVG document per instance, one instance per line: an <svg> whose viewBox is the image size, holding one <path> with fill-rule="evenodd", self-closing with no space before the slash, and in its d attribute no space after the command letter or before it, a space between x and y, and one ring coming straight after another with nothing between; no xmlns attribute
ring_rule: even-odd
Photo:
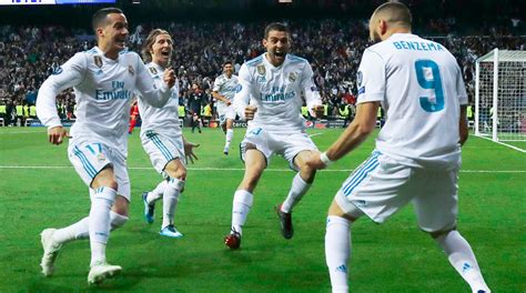
<svg viewBox="0 0 526 293"><path fill-rule="evenodd" d="M162 107L170 98L166 84L154 85L144 63L127 50L117 60L93 49L79 52L49 77L39 90L37 114L48 128L61 125L55 97L73 87L77 121L71 128L74 139L90 138L127 154L130 99L138 90L142 99Z"/></svg>

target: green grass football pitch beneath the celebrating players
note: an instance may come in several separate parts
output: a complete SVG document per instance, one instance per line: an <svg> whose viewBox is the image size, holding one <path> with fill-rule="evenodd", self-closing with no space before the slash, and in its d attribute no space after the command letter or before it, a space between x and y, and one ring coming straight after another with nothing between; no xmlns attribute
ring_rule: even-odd
<svg viewBox="0 0 526 293"><path fill-rule="evenodd" d="M138 132L130 137L130 221L111 234L108 260L123 273L88 286L89 242L68 243L55 274L40 273L39 233L89 212L88 189L67 158L67 145L47 142L43 128L0 129L0 292L330 292L325 267L326 210L340 184L373 150L373 139L316 175L294 211L295 235L284 240L273 206L294 175L274 158L254 195L242 249L229 251L232 196L243 175L237 148L222 154L223 133L205 129L188 140L201 143L190 165L176 212L181 240L158 234L143 221L142 191L161 180ZM342 132L312 130L325 150ZM233 145L244 130L236 129ZM526 154L472 137L464 149L458 229L471 242L494 292L526 290ZM160 208L160 205L158 205ZM435 242L416 226L411 206L383 225L363 218L353 224L352 292L469 292Z"/></svg>

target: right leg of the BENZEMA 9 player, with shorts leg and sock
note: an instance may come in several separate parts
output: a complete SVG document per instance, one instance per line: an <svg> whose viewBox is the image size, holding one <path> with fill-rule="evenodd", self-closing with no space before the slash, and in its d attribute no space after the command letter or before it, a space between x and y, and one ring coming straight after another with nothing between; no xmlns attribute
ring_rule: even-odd
<svg viewBox="0 0 526 293"><path fill-rule="evenodd" d="M490 292L472 246L456 230L457 172L427 172L419 178L421 188L426 192L413 201L418 225L437 242L449 263L469 284L473 292Z"/></svg>

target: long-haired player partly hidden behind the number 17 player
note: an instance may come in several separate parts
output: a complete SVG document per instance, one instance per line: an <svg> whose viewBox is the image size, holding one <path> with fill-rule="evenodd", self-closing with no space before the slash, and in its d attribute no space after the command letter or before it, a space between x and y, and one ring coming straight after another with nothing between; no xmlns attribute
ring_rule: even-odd
<svg viewBox="0 0 526 293"><path fill-rule="evenodd" d="M154 29L150 32L142 50L148 71L158 87L162 85L162 77L169 68L172 57L173 40L165 30ZM155 201L163 200L163 236L182 238L174 226L175 209L179 195L186 181L185 154L193 161L196 159L193 148L198 144L186 142L179 125L179 85L172 88L172 97L163 108L154 108L139 100L142 113L141 141L144 151L150 155L153 168L164 178L152 192L144 192L144 218L153 223Z"/></svg>

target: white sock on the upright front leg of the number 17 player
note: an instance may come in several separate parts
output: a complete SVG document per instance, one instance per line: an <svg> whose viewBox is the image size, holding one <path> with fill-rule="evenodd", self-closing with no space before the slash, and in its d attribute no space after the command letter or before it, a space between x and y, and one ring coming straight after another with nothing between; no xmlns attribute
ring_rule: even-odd
<svg viewBox="0 0 526 293"><path fill-rule="evenodd" d="M110 238L110 209L115 200L117 191L99 188L91 198L89 219L91 264L105 262L105 245Z"/></svg>

